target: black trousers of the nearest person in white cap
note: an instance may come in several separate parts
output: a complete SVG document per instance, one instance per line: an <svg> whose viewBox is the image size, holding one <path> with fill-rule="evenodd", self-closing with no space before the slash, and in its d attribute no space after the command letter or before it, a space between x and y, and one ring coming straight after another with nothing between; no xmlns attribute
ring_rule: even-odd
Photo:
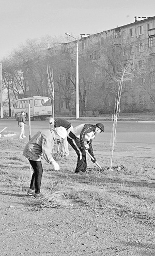
<svg viewBox="0 0 155 256"><path fill-rule="evenodd" d="M40 186L41 186L41 179L42 179L42 163L41 161L32 161L29 160L30 165L32 166L34 173L32 175L32 179L30 182L30 189L34 190L35 193L39 194L40 193Z"/></svg>

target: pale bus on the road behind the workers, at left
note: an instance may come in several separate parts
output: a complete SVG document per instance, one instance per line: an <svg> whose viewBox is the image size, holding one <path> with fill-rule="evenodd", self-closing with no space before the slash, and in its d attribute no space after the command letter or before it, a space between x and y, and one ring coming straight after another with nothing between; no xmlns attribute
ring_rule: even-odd
<svg viewBox="0 0 155 256"><path fill-rule="evenodd" d="M46 117L52 116L52 104L49 97L33 96L29 98L18 99L14 102L14 116L18 120L21 111L25 112L28 120L28 104L30 105L30 119L46 120Z"/></svg>

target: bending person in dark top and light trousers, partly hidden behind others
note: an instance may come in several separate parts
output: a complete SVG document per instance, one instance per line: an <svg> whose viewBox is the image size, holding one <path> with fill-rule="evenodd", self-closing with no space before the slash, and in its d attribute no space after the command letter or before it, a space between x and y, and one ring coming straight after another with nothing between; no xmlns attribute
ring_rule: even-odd
<svg viewBox="0 0 155 256"><path fill-rule="evenodd" d="M53 125L54 128L63 126L67 130L67 136L69 132L73 129L73 126L71 125L70 122L64 119L56 119L50 117L49 118L49 124ZM66 138L62 141L62 147L61 147L61 156L62 157L68 157L69 156L69 149L68 149L68 142L67 142L67 136Z"/></svg>

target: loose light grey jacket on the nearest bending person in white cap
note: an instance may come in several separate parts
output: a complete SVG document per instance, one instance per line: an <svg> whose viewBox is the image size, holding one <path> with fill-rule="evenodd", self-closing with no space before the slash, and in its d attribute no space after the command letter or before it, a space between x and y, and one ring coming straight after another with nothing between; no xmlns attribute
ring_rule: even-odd
<svg viewBox="0 0 155 256"><path fill-rule="evenodd" d="M41 160L41 156L43 156L48 163L51 163L54 161L52 156L54 141L55 134L52 129L38 131L26 144L23 155L34 161Z"/></svg>

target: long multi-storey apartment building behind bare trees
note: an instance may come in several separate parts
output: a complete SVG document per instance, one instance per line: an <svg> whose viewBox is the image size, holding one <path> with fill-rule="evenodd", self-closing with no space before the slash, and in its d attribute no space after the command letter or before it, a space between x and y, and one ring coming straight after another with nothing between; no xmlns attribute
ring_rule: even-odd
<svg viewBox="0 0 155 256"><path fill-rule="evenodd" d="M113 111L119 75L126 65L121 111L154 110L155 16L134 17L133 23L94 35L82 35L78 41L61 46L61 57L66 66L60 77L68 88L68 98L61 101L63 112L69 108L70 101L71 107L75 106L75 43L79 44L80 105L83 111Z"/></svg>

